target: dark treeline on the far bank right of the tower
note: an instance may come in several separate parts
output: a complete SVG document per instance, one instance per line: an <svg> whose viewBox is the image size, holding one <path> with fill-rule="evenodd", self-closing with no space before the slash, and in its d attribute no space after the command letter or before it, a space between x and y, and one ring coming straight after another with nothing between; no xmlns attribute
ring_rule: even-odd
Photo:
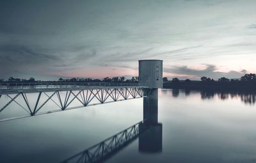
<svg viewBox="0 0 256 163"><path fill-rule="evenodd" d="M245 74L239 79L228 79L225 77L214 80L202 76L201 81L191 81L189 79L180 81L179 78L173 78L171 81L163 78L164 88L171 89L256 89L256 74Z"/></svg>

